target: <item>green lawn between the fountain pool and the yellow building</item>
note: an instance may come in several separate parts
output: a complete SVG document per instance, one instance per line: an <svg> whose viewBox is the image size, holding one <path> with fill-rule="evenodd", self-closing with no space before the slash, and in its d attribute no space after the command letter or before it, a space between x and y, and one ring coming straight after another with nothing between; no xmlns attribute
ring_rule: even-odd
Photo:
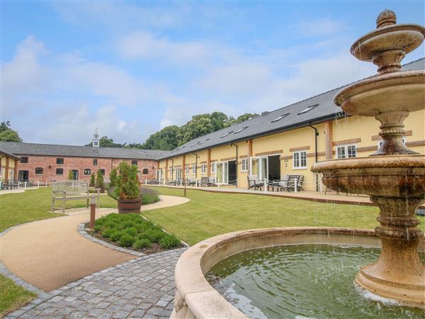
<svg viewBox="0 0 425 319"><path fill-rule="evenodd" d="M183 189L157 188L162 195L183 196ZM142 215L189 245L236 230L288 226L331 226L373 229L379 223L374 206L316 203L251 194L222 194L188 189L191 201L180 206L143 211ZM419 228L425 229L420 217Z"/></svg>

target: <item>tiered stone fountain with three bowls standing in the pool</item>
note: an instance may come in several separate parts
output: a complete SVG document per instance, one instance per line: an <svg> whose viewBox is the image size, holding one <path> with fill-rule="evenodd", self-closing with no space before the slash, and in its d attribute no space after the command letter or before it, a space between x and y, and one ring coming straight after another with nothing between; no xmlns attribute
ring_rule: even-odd
<svg viewBox="0 0 425 319"><path fill-rule="evenodd" d="M375 233L382 242L380 257L364 266L356 283L368 291L404 303L425 306L425 267L418 244L424 232L416 228L415 209L425 202L425 156L402 142L409 112L425 108L425 71L401 71L404 56L419 47L425 28L396 24L393 11L377 18L377 28L356 40L351 54L378 65L378 74L339 91L335 103L348 114L375 116L383 143L373 155L319 162L330 189L368 194L380 208ZM424 121L418 119L417 121Z"/></svg>

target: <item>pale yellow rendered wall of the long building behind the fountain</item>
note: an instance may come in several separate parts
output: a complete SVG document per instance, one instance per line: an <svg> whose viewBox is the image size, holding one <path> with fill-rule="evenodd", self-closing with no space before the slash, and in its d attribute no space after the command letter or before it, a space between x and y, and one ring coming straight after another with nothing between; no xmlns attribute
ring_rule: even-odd
<svg viewBox="0 0 425 319"><path fill-rule="evenodd" d="M420 154L425 154L425 111L416 111L410 114L410 116L404 121L404 129L408 133L412 131L411 135L406 136L407 147ZM346 144L355 144L357 149L356 157L365 157L378 149L378 132L380 123L372 117L361 117L361 116L349 116L347 118L341 118L339 120L331 121L332 141L341 143L344 140L351 140ZM318 161L326 159L326 143L327 138L325 134L325 124L319 123L314 125L317 128L319 135L317 136L317 152ZM412 144L412 145L409 145ZM247 186L247 175L249 172L242 171L242 158L249 154L249 142L248 140L238 142L238 162L237 162L237 178L239 187ZM331 150L333 154L332 158L336 158L336 147L332 145ZM303 169L296 169L293 167L293 153L297 152L297 149L302 148L307 152L307 167ZM295 149L295 150L294 150ZM213 147L211 150L211 162L221 162L236 159L236 147L230 145L224 145L220 147ZM200 150L196 152L198 154L198 169L197 175L192 173L192 165L196 163L195 155L188 153L186 154L186 165L190 166L189 174L185 176L190 179L200 179L207 174L201 174L201 164L208 161L208 150ZM310 172L312 164L315 162L314 156L314 129L310 127L298 128L283 133L276 133L273 135L264 136L261 138L254 138L252 140L252 157L268 156L272 153L273 155L280 155L280 177L284 177L287 174L302 174L305 177L303 188L305 190L314 191L319 183L317 183L317 176ZM174 167L179 166L183 163L183 156L173 157ZM159 162L159 167L164 168L165 172L165 160ZM171 160L169 159L169 168L171 167ZM184 167L182 167L184 169ZM250 169L250 161L248 161L248 169ZM207 170L208 172L208 170ZM210 174L211 177L215 177L215 174ZM167 177L169 175L167 174ZM172 179L175 179L175 174ZM169 177L171 179L171 177Z"/></svg>

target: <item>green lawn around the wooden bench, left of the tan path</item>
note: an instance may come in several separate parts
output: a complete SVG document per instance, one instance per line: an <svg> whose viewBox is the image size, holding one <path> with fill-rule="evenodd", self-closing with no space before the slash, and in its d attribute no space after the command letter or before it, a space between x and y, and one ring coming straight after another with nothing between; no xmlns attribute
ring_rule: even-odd
<svg viewBox="0 0 425 319"><path fill-rule="evenodd" d="M0 195L0 232L14 225L33 220L62 216L60 213L47 213L52 205L52 189L40 187L25 193ZM57 202L57 208L60 203ZM67 201L66 208L86 207L86 200ZM116 201L109 196L101 196L101 207L116 208ZM58 211L60 212L60 211Z"/></svg>

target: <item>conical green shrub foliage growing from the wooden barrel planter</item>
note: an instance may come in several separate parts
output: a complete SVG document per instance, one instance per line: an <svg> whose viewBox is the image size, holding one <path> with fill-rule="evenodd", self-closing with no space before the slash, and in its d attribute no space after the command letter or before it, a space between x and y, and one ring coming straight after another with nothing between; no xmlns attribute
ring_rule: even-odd
<svg viewBox="0 0 425 319"><path fill-rule="evenodd" d="M137 181L137 166L121 162L118 167L117 187L115 196L120 199L135 199L140 197Z"/></svg>

